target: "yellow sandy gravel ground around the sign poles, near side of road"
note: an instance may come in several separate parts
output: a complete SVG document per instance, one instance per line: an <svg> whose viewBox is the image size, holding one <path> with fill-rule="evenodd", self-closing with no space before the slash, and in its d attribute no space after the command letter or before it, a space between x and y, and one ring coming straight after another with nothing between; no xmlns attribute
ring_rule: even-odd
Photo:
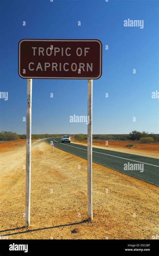
<svg viewBox="0 0 159 256"><path fill-rule="evenodd" d="M15 142L16 143L16 142ZM32 143L31 226L24 228L25 147L1 152L0 235L8 239L152 239L151 184L93 163L93 221L87 221L87 161Z"/></svg>

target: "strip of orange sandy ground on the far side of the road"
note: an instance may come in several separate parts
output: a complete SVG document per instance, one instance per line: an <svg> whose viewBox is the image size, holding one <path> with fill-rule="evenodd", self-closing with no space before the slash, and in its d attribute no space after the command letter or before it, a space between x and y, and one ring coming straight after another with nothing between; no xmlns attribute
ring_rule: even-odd
<svg viewBox="0 0 159 256"><path fill-rule="evenodd" d="M71 143L77 143L81 145L87 145L87 140L75 140L71 137ZM115 141L109 140L108 146L105 145L105 140L95 140L93 139L93 147L101 148L112 151L119 151L128 154L134 154L139 156L147 156L153 158L159 158L159 143L140 143L137 141ZM126 145L133 144L133 147L125 147Z"/></svg>

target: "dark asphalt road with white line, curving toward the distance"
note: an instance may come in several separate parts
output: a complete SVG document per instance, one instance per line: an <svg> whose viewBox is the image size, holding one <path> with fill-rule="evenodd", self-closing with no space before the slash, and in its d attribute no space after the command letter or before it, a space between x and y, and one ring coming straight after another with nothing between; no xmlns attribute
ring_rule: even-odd
<svg viewBox="0 0 159 256"><path fill-rule="evenodd" d="M54 142L54 147L87 159L87 146L67 142L61 143L61 138L46 139L49 144L51 140ZM92 161L94 163L101 164L131 177L159 186L159 159L98 148L93 148L92 151ZM127 164L127 170L125 170L125 164ZM136 166L134 164L140 164L140 166L138 165L136 170L132 170L131 164L133 164L133 168Z"/></svg>

